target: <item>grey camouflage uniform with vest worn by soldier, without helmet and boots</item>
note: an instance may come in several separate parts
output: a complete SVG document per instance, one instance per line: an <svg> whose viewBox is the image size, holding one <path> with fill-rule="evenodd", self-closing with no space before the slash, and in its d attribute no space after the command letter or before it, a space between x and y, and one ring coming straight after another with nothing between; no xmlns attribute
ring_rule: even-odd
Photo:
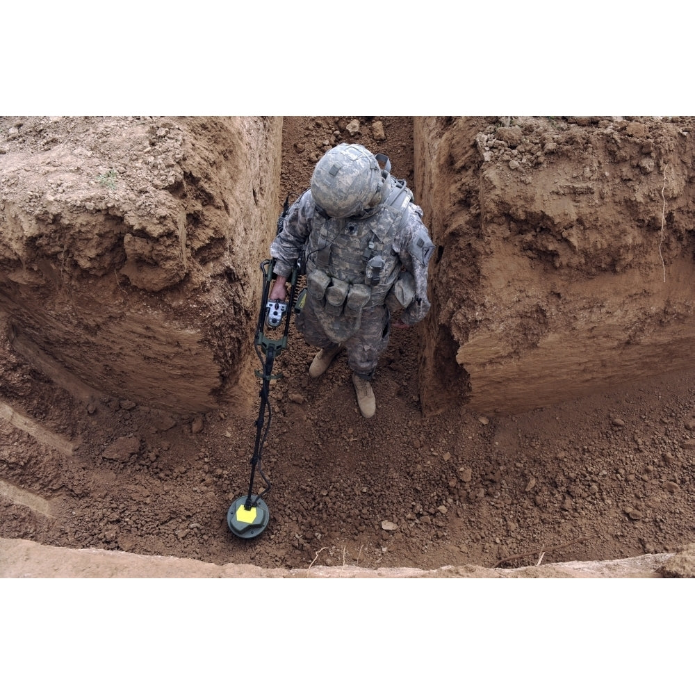
<svg viewBox="0 0 695 695"><path fill-rule="evenodd" d="M277 275L290 275L300 258L306 266L307 297L296 320L306 342L343 345L348 365L366 380L389 344L391 311L402 308L400 320L414 325L430 310L427 264L434 245L422 209L404 181L396 183L401 188L391 186L389 200L358 218L327 217L306 190L270 245Z"/></svg>

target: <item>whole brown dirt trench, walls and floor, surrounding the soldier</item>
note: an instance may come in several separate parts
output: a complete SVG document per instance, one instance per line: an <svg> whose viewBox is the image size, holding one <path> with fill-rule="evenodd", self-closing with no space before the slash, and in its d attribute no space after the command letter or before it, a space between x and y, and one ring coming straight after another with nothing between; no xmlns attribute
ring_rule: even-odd
<svg viewBox="0 0 695 695"><path fill-rule="evenodd" d="M27 140L48 148L42 152L60 142L50 139L48 122L20 121L2 120L5 186L11 178L7 158L24 161ZM17 250L15 256L6 253L0 536L281 572L309 566L514 569L669 555L687 546L695 530L695 372L689 363L692 305L682 289L692 272L691 184L687 176L669 179L663 153L692 160L689 122L669 122L660 130L650 119L546 121L286 118L281 152L273 159L279 186L271 183L272 166L250 158L250 179L260 182L252 190L234 183L233 165L224 177L220 166L224 171L234 152L245 151L243 137L273 142L276 122L138 122L136 130L147 133L147 142L133 141L143 143L139 158L133 155L122 172L115 161L101 169L97 163L91 183L105 178L92 204L108 219L126 220L117 211L118 197L145 183L133 177L135 183L112 191L110 181L119 186L149 164L158 178L150 169L145 179L159 187L140 196L152 199L147 207L160 226L149 217L128 218L131 229L140 227L137 235L123 231L124 242L132 237L124 256L108 247L92 251L89 261L66 259L63 247L44 246L43 256L54 260L47 264L36 254L32 267L17 261ZM90 133L106 133L97 142L111 143L106 152L115 154L121 152L115 133L132 132L109 120L60 125L67 138L60 146L72 147L81 167L90 158L74 154L71 137L84 143ZM193 126L207 138L195 140L206 143L195 153L186 137ZM31 137L22 134L25 128ZM237 145L220 154L213 142L224 129ZM685 149L669 149L664 133L670 131L684 138ZM22 137L25 142L17 142ZM598 153L596 138L607 154L571 169L571 158L587 158L589 145ZM246 491L253 449L252 373L258 364L249 343L261 281L254 265L275 225L267 210L277 214L286 195L301 193L320 154L345 140L386 152L393 173L413 183L439 249L431 269L433 310L426 325L392 335L375 382L377 416L368 421L357 411L345 363L338 360L322 379L309 379L313 350L291 330L278 364L284 378L272 386L263 458L272 482L271 521L259 539L243 541L229 533L226 512ZM650 141L652 151L643 152ZM566 156L564 168L553 169L558 151ZM179 152L188 154L177 159ZM612 163L610 185L597 168L603 157ZM450 174L434 177L427 173L434 164L418 169L418 161ZM66 171L64 177L79 174ZM111 171L116 173L109 179ZM44 167L36 188L46 172ZM481 172L484 185L476 193L472 181ZM669 202L663 218L657 179ZM55 187L48 195L58 202L63 195L67 205L72 189L65 181ZM24 190L26 200L41 208L40 199L29 195L31 186ZM552 195L530 199L533 190ZM600 201L610 195L621 201L622 212L601 222ZM45 202L46 190L42 196ZM3 200L7 220L8 198ZM85 201L74 205L81 209ZM247 218L231 215L238 206L247 206L254 227L265 230L262 243L248 236L240 222ZM13 219L34 229L29 213L13 213ZM156 250L162 238L181 247L180 227L167 227L181 215L187 221L184 246L195 251L186 259L183 281L177 279L181 257L162 258ZM634 224L621 222L621 234L605 239L621 215ZM231 234L224 231L230 219L238 224ZM662 221L667 234L659 244ZM51 217L50 224L62 229L58 222ZM120 234L118 224L108 229ZM88 225L79 229L76 248L89 248ZM607 267L597 269L609 257ZM107 281L113 264L123 269L118 282ZM99 320L106 336L99 350L72 350L79 341L65 331L60 311L42 322L17 307L39 270L58 283L70 268L85 277L87 265L104 272L88 277L82 296L91 293L102 311L115 316ZM124 292L126 304L137 300L142 307L137 322L119 320L128 316L117 312ZM46 288L40 296L47 304L54 300ZM71 327L90 316L88 302L82 306L74 296L58 297L65 316L75 318ZM622 330L626 321L628 334ZM89 336L88 320L81 328ZM201 329L208 331L205 339ZM152 353L132 350L131 363L141 365L119 373L121 354L108 352L113 336L118 345L127 347L126 336L135 347L143 335L152 336L151 345L176 345L180 362L171 354L152 360ZM71 350L72 361L56 358ZM83 354L94 358L82 369L87 378L75 375ZM177 379L188 386L181 389ZM172 388L152 399L161 385Z"/></svg>

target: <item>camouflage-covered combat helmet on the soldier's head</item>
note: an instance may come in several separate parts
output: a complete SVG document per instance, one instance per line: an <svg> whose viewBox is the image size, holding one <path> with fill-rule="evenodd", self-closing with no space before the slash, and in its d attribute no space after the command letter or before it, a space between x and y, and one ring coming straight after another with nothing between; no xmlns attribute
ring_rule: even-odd
<svg viewBox="0 0 695 695"><path fill-rule="evenodd" d="M379 162L385 165L383 170ZM311 177L311 195L329 217L366 217L386 198L390 171L388 157L343 142L318 161Z"/></svg>

